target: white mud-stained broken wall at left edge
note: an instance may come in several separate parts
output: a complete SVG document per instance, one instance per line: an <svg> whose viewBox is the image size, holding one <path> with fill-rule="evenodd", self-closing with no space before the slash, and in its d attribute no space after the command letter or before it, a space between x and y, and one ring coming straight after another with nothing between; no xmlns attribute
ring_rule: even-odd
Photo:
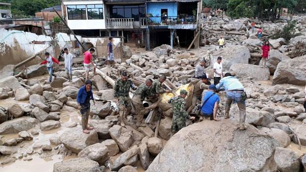
<svg viewBox="0 0 306 172"><path fill-rule="evenodd" d="M34 44L34 41L40 43ZM6 65L16 65L45 49L52 54L53 49L50 47L50 44L50 36L0 29L0 69ZM27 63L26 66L31 66L41 61L40 58L35 58L33 61Z"/></svg>

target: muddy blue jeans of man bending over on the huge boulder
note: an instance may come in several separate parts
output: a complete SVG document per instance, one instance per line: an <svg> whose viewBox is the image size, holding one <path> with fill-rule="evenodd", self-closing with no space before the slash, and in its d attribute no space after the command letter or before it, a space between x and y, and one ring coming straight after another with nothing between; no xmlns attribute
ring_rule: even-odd
<svg viewBox="0 0 306 172"><path fill-rule="evenodd" d="M240 114L240 119L239 119L239 124L240 126L244 124L245 121L245 101L241 101L241 91L227 91L226 92L226 102L225 102L225 117L229 117L229 111L231 108L231 104L237 103L238 108L239 108L239 114Z"/></svg>

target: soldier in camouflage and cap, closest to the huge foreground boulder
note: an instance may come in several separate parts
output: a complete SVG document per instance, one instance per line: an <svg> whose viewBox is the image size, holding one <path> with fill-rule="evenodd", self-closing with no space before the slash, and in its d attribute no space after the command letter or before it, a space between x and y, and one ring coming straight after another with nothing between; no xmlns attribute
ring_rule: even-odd
<svg viewBox="0 0 306 172"><path fill-rule="evenodd" d="M186 120L194 120L195 117L190 117L186 112L186 98L187 91L182 89L180 95L177 97L172 97L168 103L171 103L173 110L172 125L171 125L171 135L175 134L180 129L186 127Z"/></svg>

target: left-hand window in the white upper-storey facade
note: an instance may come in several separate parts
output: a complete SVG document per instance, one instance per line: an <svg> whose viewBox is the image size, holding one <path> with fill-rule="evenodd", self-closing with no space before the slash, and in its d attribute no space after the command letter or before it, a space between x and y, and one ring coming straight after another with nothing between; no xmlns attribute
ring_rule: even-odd
<svg viewBox="0 0 306 172"><path fill-rule="evenodd" d="M67 5L69 20L85 20L86 6L85 5Z"/></svg>

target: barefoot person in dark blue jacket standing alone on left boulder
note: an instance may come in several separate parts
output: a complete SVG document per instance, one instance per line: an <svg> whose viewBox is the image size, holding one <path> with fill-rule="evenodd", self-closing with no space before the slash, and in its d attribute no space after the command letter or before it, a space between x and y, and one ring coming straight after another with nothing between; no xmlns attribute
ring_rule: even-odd
<svg viewBox="0 0 306 172"><path fill-rule="evenodd" d="M92 94L92 82L90 80L86 80L85 86L82 86L79 89L77 102L79 104L79 110L82 115L82 128L83 132L88 134L88 130L92 130L93 127L88 127L88 118L90 112L90 100L92 100L93 104L96 105L96 102L93 98Z"/></svg>

